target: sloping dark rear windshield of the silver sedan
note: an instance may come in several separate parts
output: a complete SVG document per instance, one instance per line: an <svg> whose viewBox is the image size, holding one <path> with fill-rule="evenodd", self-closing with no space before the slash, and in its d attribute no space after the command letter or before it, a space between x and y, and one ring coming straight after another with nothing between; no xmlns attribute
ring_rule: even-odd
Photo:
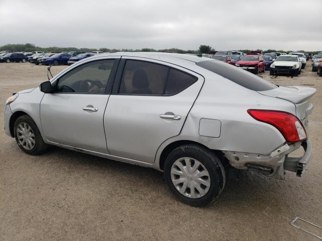
<svg viewBox="0 0 322 241"><path fill-rule="evenodd" d="M251 90L265 91L277 88L277 85L230 64L211 60L198 62L196 64Z"/></svg>

